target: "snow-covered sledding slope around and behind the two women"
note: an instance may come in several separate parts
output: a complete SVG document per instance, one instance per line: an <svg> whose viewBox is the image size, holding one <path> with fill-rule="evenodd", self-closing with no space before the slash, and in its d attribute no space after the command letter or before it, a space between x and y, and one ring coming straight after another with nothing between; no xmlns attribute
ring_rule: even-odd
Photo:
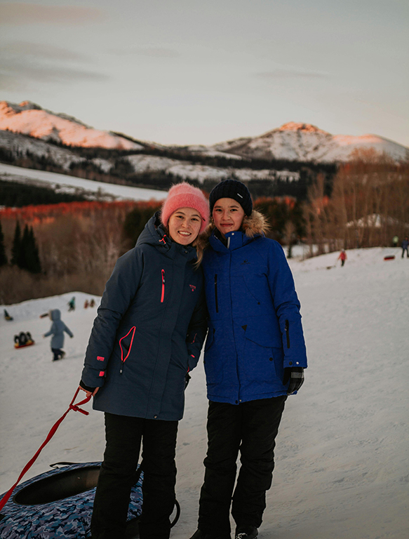
<svg viewBox="0 0 409 539"><path fill-rule="evenodd" d="M296 253L297 254L297 253ZM395 254L395 260L384 260ZM292 259L309 368L300 393L289 397L276 447L274 482L260 539L407 539L409 260L388 248ZM334 267L335 266L335 267ZM329 269L328 269L329 268ZM67 301L76 296L76 310ZM71 293L7 306L0 319L0 491L65 412L79 382L94 309L90 295ZM98 300L99 298L95 298ZM67 357L51 361L41 335L51 307L73 331ZM13 335L30 331L36 344L13 347ZM86 406L91 409L90 404ZM177 498L182 514L172 539L196 529L206 454L203 364L187 387L185 418L177 444ZM24 479L60 460L100 460L103 416L70 412Z"/></svg>

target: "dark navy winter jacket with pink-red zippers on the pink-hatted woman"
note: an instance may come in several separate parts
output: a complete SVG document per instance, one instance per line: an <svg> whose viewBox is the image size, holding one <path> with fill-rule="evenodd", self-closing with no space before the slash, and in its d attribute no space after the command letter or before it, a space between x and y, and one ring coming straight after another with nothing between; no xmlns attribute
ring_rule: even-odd
<svg viewBox="0 0 409 539"><path fill-rule="evenodd" d="M93 408L179 420L185 375L206 337L203 272L196 249L166 236L155 214L116 262L102 295L81 382L101 389Z"/></svg>

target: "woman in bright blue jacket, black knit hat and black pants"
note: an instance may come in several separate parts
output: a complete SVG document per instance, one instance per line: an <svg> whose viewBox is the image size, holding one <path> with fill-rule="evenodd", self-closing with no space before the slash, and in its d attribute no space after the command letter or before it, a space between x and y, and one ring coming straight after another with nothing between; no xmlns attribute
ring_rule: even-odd
<svg viewBox="0 0 409 539"><path fill-rule="evenodd" d="M208 451L191 539L253 539L271 486L274 446L288 394L304 381L300 302L283 248L236 180L210 193L203 255L208 337ZM236 488L236 459L241 469ZM232 501L233 500L233 501Z"/></svg>

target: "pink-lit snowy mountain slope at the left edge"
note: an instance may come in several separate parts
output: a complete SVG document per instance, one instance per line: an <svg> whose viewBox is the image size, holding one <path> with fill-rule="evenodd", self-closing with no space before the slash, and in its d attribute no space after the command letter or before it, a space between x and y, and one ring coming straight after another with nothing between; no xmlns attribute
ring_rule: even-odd
<svg viewBox="0 0 409 539"><path fill-rule="evenodd" d="M127 138L86 126L67 114L55 114L31 101L23 101L20 105L1 101L0 129L62 142L67 146L142 149L140 144Z"/></svg>

